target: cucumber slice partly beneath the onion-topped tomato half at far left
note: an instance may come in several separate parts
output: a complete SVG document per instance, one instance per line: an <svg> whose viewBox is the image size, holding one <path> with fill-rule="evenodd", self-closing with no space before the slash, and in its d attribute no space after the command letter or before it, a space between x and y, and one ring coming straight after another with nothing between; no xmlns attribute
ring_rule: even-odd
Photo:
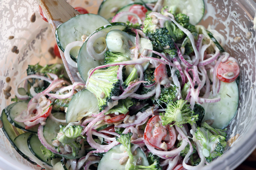
<svg viewBox="0 0 256 170"><path fill-rule="evenodd" d="M28 131L28 132L32 132L32 133L37 133L39 125L36 125L35 127L32 127L30 129L25 129L26 125L23 122L18 122L18 121L14 120L14 118L17 115L19 115L21 111L23 111L25 109L28 109L28 101L14 103L14 106L12 106L12 108L10 108L6 112L7 119L12 125L14 125L15 127L19 128L19 129L22 129L22 130Z"/></svg>

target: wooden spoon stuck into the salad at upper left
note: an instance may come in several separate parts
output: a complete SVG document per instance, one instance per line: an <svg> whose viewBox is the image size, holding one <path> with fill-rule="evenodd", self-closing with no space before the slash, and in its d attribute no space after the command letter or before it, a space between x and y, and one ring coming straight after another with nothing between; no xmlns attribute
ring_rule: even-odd
<svg viewBox="0 0 256 170"><path fill-rule="evenodd" d="M55 30L58 25L80 14L80 12L70 6L70 4L68 4L65 0L37 0L37 2L41 6L44 15L46 16L49 24L52 27L54 37ZM60 48L59 51L71 82L84 82L84 80L82 80L82 78L78 74L78 69L68 64L64 57L64 53L60 50Z"/></svg>

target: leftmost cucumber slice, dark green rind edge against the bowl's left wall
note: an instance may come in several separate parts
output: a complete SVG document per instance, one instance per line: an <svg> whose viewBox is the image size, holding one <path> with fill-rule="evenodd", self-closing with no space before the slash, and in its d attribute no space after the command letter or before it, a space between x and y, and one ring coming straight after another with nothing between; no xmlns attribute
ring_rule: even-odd
<svg viewBox="0 0 256 170"><path fill-rule="evenodd" d="M3 127L2 130L6 136L6 138L8 139L8 141L11 143L11 145L14 147L14 149L26 160L28 160L28 162L32 163L32 164L36 164L35 162L33 162L32 160L30 160L28 158L28 156L26 156L20 149L18 149L18 147L15 145L14 140L16 139L16 137L18 137L18 133L15 133L13 128L14 127L12 124L10 124L10 122L8 121L5 111L9 110L12 106L14 106L14 104L11 104L9 106L7 106L3 111L2 111L2 115L1 115L1 120L3 123Z"/></svg>

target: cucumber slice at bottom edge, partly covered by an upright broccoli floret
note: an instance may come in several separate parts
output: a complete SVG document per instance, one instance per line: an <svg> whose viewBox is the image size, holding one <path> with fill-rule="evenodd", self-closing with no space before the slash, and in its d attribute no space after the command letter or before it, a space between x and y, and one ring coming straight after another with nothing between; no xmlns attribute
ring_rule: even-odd
<svg viewBox="0 0 256 170"><path fill-rule="evenodd" d="M120 153L124 152L124 151L120 150L120 146L122 146L122 144L116 145L112 149L108 150L108 152L106 152L106 154L104 154L104 156L101 158L100 163L98 165L99 170L125 170L126 164L120 165L120 163L119 163L120 160L112 158L113 153L120 154ZM131 144L131 147L132 146L133 146L133 144ZM137 150L137 154L134 156L135 164L136 164L136 161L138 160L138 158L141 157L142 165L149 166L149 163L148 163L145 153L140 149L140 147L138 147L136 150ZM110 162L111 162L111 164L110 164Z"/></svg>

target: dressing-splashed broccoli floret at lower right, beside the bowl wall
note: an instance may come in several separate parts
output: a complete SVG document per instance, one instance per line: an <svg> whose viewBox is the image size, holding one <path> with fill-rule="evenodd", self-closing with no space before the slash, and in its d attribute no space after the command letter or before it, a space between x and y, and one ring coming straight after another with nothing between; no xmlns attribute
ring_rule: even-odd
<svg viewBox="0 0 256 170"><path fill-rule="evenodd" d="M210 129L212 129L212 127ZM207 162L211 162L213 158L221 156L225 150L226 137L214 135L204 126L197 127L196 132L193 135L193 139L194 138L200 143L202 154L206 157Z"/></svg>

